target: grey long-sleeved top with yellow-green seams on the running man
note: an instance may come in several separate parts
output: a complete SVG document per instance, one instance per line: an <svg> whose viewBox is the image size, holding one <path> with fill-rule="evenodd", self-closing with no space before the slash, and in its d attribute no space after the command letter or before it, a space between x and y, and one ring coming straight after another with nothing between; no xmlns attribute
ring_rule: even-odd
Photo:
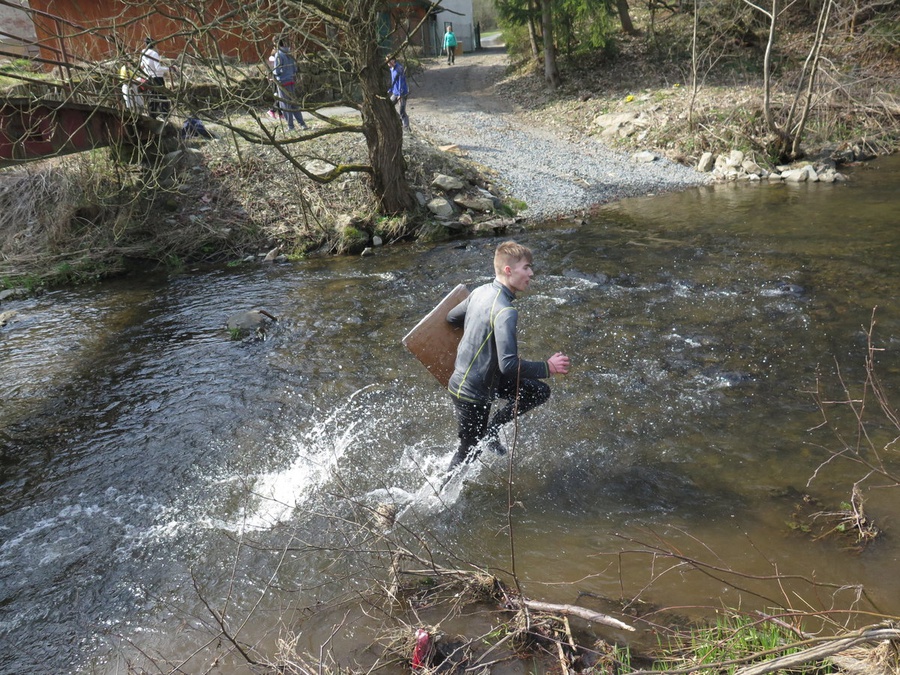
<svg viewBox="0 0 900 675"><path fill-rule="evenodd" d="M465 401L489 402L502 377L550 377L546 361L519 358L516 343L519 313L512 306L515 298L512 291L495 279L476 288L450 310L447 321L463 328L447 387L454 396Z"/></svg>

